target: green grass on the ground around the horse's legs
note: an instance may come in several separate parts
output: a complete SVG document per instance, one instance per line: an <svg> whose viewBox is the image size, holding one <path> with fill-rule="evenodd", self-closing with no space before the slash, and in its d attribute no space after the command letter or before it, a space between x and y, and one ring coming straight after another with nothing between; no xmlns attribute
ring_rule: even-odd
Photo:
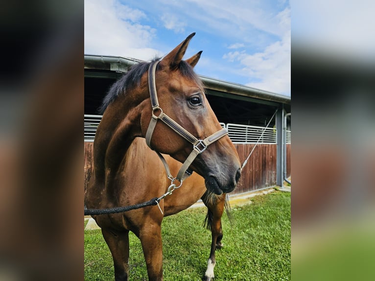
<svg viewBox="0 0 375 281"><path fill-rule="evenodd" d="M224 247L216 251L215 281L290 280L290 193L275 191L232 206L223 215ZM211 233L202 227L206 208L182 211L163 221L165 281L199 281L210 255ZM141 243L130 240L130 280L147 280ZM85 280L114 280L110 251L99 230L85 231Z"/></svg>

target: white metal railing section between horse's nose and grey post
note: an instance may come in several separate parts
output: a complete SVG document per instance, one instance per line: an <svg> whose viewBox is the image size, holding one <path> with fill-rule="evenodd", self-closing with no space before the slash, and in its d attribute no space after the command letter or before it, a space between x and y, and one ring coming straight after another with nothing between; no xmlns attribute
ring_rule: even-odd
<svg viewBox="0 0 375 281"><path fill-rule="evenodd" d="M276 143L276 128L228 123L227 129L234 143Z"/></svg>

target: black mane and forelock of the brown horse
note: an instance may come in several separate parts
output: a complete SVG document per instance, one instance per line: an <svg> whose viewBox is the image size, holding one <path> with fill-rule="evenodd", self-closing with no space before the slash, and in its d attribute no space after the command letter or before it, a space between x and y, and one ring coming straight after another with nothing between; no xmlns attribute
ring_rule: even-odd
<svg viewBox="0 0 375 281"><path fill-rule="evenodd" d="M159 58L154 59L153 61L159 60ZM153 62L152 61L152 62ZM109 89L108 94L104 97L101 106L98 111L100 114L103 114L106 108L110 103L116 100L121 94L125 94L127 90L131 89L135 85L140 86L141 77L143 73L148 71L151 62L141 62L130 68L130 70L122 75ZM203 88L202 81L199 79L198 75L194 72L193 68L185 61L181 61L179 66L181 74L191 80L197 82ZM157 65L156 70L159 69Z"/></svg>

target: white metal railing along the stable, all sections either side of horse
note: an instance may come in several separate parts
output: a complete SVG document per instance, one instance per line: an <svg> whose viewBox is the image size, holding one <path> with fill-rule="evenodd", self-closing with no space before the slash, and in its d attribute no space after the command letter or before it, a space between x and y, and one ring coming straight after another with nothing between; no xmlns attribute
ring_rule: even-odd
<svg viewBox="0 0 375 281"><path fill-rule="evenodd" d="M85 114L85 141L94 141L96 128L102 115ZM265 128L258 126L239 125L232 123L220 123L223 128L227 128L229 138L234 143L276 143L276 128ZM291 143L291 131L286 131L286 143Z"/></svg>

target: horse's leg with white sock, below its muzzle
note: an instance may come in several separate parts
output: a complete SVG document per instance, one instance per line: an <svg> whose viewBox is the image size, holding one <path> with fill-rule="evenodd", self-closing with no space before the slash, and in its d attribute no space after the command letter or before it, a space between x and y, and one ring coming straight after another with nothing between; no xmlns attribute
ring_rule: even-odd
<svg viewBox="0 0 375 281"><path fill-rule="evenodd" d="M205 272L205 276L203 278L204 281L211 281L214 279L213 269L216 265L215 259L215 250L221 249L223 244L221 239L223 238L223 231L221 228L221 216L224 211L225 205L225 194L217 200L215 200L215 204L211 205L208 204L208 223L211 223L211 251L210 251L210 258L207 262L207 270ZM211 217L210 217L211 216Z"/></svg>

